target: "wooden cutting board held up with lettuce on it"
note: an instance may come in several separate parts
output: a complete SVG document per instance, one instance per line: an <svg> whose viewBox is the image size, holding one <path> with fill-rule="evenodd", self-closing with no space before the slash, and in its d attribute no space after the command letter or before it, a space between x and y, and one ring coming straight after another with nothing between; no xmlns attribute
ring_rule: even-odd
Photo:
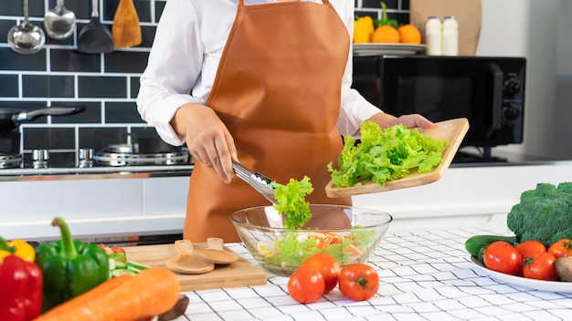
<svg viewBox="0 0 572 321"><path fill-rule="evenodd" d="M387 192L439 181L443 175L445 175L445 172L449 169L450 162L453 161L457 150L459 150L459 147L461 146L461 141L464 139L467 130L469 130L469 120L464 118L450 119L435 123L431 129L418 130L424 135L439 140L449 141L449 147L447 150L443 150L443 159L436 169L425 173L418 173L417 171L414 171L408 176L399 180L387 181L383 186L379 185L375 181L368 181L361 186L336 187L333 185L332 181L330 181L325 187L326 195L328 197L334 198L374 192Z"/></svg>

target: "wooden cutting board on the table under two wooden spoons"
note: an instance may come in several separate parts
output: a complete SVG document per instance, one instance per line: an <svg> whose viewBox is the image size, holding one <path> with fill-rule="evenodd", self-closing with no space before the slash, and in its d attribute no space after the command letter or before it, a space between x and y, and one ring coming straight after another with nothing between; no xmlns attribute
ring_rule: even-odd
<svg viewBox="0 0 572 321"><path fill-rule="evenodd" d="M193 243L196 249L206 248L207 243ZM164 263L175 256L174 244L142 245L124 247L129 261L151 266L164 266ZM234 253L225 247L228 252ZM182 292L210 290L250 285L266 285L267 274L259 267L240 256L233 264L217 264L215 269L206 274L178 274Z"/></svg>

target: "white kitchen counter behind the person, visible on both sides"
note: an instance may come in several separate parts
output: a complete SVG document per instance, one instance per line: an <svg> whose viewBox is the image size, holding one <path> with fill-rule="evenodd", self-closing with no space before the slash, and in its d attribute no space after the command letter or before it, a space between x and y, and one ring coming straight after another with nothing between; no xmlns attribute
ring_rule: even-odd
<svg viewBox="0 0 572 321"><path fill-rule="evenodd" d="M428 185L356 195L354 205L389 212L397 230L482 226L503 220L538 182L572 181L572 161L450 168ZM66 219L73 235L92 240L182 233L188 177L0 181L0 235L48 241L50 222ZM106 241L102 241L106 242Z"/></svg>

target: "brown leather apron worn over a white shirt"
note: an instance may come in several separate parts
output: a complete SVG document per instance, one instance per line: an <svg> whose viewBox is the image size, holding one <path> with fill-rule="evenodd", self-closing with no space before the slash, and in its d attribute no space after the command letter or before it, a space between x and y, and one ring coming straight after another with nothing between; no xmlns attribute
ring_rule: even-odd
<svg viewBox="0 0 572 321"><path fill-rule="evenodd" d="M281 184L310 177L311 203L351 204L325 195L326 165L343 142L342 77L348 57L347 29L328 0L265 5L238 4L207 106L227 125L238 161ZM239 242L230 214L270 205L246 182L226 184L197 162L191 174L184 237Z"/></svg>

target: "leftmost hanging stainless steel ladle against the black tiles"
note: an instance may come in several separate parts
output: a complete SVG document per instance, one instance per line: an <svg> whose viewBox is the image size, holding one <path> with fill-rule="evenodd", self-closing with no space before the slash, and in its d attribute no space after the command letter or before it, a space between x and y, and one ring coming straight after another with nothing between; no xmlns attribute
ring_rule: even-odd
<svg viewBox="0 0 572 321"><path fill-rule="evenodd" d="M8 43L19 54L35 54L46 43L46 34L39 26L29 22L28 0L24 2L24 21L8 31Z"/></svg>

